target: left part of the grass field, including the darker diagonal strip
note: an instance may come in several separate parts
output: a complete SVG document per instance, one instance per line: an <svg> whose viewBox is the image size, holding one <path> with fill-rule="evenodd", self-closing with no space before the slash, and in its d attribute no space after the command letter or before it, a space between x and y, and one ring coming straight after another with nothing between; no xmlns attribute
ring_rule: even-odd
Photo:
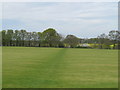
<svg viewBox="0 0 120 90"><path fill-rule="evenodd" d="M5 77L5 78L3 77L3 87L17 87L17 88L45 87L47 83L52 83L53 78L51 76L55 77L54 72L57 70L59 62L61 61L65 52L65 49L56 50L54 48L47 49L47 48L11 47L7 49L8 51L9 50L13 51L16 54L15 56L18 57L10 56L11 53L8 53L8 51L6 51L6 48L5 49L3 48L4 50L3 56L4 52L8 54L7 56L10 56L4 57L5 59L7 58L8 61L6 61L3 58L4 67L10 66L7 68L3 68L5 71L3 73L3 76ZM18 50L16 51L16 49ZM32 51L30 49L32 49ZM38 53L37 51L41 53ZM6 73L9 74L10 76L8 76Z"/></svg>

